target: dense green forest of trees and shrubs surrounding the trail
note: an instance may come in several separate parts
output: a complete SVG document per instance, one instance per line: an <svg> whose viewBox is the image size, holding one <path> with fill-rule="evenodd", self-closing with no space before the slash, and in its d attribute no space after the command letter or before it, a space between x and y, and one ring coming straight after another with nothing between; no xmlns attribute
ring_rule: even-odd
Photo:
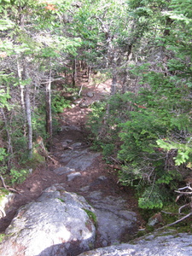
<svg viewBox="0 0 192 256"><path fill-rule="evenodd" d="M111 79L92 106L93 148L120 166L139 207L160 208L192 168L190 0L0 1L0 174L23 177L51 146L77 72ZM70 78L70 79L68 79ZM57 90L59 82L62 90ZM54 125L53 125L54 124Z"/></svg>

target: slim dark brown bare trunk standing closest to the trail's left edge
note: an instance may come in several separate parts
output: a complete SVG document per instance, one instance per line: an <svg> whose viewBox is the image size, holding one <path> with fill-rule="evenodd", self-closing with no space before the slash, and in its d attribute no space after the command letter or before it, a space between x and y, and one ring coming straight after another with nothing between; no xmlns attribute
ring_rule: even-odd
<svg viewBox="0 0 192 256"><path fill-rule="evenodd" d="M46 131L49 134L49 139L51 144L52 134L53 134L52 113L51 113L51 70L49 72L49 81L46 83L45 102L46 102Z"/></svg>

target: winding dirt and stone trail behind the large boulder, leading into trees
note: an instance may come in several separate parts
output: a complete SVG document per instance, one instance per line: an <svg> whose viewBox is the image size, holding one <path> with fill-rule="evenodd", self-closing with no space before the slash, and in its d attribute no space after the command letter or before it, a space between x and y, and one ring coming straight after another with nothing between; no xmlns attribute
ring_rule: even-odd
<svg viewBox="0 0 192 256"><path fill-rule="evenodd" d="M39 166L24 183L17 186L20 194L15 195L6 217L0 220L0 232L8 227L20 206L36 200L45 188L55 183L62 183L68 192L83 195L87 201L91 201L90 197L96 194L100 200L107 196L113 198L113 201L115 198L117 201L122 199L125 209L137 213L137 227L142 225L143 219L139 216L133 191L120 186L117 173L113 166L102 160L102 154L91 152L89 132L84 127L90 113L90 104L109 94L110 81L97 85L84 82L79 84L79 90L81 85L81 101L61 113L61 131L53 138L50 154L54 156L57 164L49 161L48 166ZM136 231L133 230L132 234ZM97 246L105 244L98 243Z"/></svg>

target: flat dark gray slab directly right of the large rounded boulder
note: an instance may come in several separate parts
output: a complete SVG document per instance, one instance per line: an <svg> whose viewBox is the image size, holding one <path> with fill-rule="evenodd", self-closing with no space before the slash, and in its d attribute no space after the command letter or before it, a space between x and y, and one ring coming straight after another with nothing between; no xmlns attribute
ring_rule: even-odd
<svg viewBox="0 0 192 256"><path fill-rule="evenodd" d="M86 196L95 209L98 243L102 247L130 241L137 232L137 214L127 210L127 202L121 197L103 196L101 191Z"/></svg>

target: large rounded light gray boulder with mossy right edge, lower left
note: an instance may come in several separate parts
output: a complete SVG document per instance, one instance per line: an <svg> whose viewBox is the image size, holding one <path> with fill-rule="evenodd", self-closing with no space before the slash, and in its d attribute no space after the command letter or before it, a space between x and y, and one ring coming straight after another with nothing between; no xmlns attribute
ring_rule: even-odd
<svg viewBox="0 0 192 256"><path fill-rule="evenodd" d="M20 207L0 244L0 255L65 256L90 250L96 236L92 211L84 197L59 184L45 189L37 201Z"/></svg>

